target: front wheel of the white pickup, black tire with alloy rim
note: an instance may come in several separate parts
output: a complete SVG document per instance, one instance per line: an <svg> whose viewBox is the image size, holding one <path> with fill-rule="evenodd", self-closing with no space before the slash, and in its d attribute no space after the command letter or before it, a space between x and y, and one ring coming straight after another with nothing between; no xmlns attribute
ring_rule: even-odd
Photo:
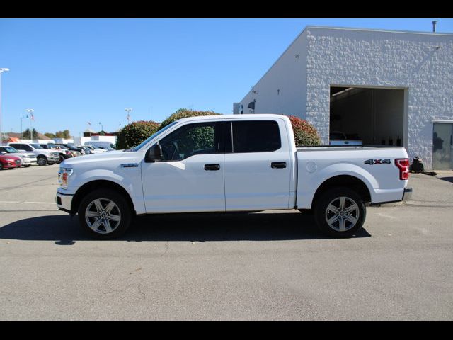
<svg viewBox="0 0 453 340"><path fill-rule="evenodd" d="M99 211L97 203L101 203L103 212L100 212L99 217L89 217L86 218L86 214L96 215ZM115 207L113 207L110 212L107 212L105 208L108 208L108 204L113 202ZM109 215L111 213L111 215ZM88 193L85 196L79 205L79 222L81 228L84 232L88 233L91 237L96 239L115 239L120 237L130 225L132 212L130 205L127 203L127 200L117 193L116 191L110 189L98 189L91 193ZM120 220L109 220L109 217L115 218L120 217ZM108 232L108 227L105 225L105 222L102 222L105 218L105 222L108 223L108 227L111 228L111 231ZM88 222L91 224L88 225ZM96 229L96 230L95 230Z"/></svg>

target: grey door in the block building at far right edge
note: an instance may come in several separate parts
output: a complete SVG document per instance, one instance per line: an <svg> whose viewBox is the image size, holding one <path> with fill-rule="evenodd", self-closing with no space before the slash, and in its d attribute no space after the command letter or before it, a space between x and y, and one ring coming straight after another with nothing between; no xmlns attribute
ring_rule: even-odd
<svg viewBox="0 0 453 340"><path fill-rule="evenodd" d="M434 123L432 169L453 169L453 123Z"/></svg>

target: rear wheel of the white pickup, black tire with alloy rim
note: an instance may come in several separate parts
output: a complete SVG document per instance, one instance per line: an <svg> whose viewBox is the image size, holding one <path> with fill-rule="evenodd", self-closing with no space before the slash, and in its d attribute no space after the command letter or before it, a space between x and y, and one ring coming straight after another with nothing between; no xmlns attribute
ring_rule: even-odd
<svg viewBox="0 0 453 340"><path fill-rule="evenodd" d="M341 206L343 202L343 207ZM362 198L350 188L331 188L317 200L314 217L321 232L331 237L351 237L365 222Z"/></svg>

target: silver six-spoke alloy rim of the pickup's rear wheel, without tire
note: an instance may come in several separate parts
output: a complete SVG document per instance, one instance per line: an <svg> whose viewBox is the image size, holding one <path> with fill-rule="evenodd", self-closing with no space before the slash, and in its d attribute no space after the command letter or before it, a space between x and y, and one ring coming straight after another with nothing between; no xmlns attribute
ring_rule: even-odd
<svg viewBox="0 0 453 340"><path fill-rule="evenodd" d="M360 210L357 203L348 197L337 197L328 204L326 222L337 232L347 232L359 220Z"/></svg>

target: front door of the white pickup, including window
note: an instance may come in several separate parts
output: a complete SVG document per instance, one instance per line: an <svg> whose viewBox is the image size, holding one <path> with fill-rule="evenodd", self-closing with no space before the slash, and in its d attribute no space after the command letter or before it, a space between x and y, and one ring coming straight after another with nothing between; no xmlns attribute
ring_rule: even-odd
<svg viewBox="0 0 453 340"><path fill-rule="evenodd" d="M161 162L142 161L147 213L225 211L222 122L189 123L164 137Z"/></svg>

